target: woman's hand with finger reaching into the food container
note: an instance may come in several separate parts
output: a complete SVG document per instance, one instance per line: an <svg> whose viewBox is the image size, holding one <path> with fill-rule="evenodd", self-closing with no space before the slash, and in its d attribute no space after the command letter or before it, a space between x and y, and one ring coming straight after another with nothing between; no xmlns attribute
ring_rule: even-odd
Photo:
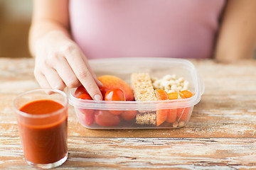
<svg viewBox="0 0 256 170"><path fill-rule="evenodd" d="M100 81L80 47L60 30L52 30L36 40L34 74L42 88L75 88L81 84L95 100L102 100Z"/></svg>

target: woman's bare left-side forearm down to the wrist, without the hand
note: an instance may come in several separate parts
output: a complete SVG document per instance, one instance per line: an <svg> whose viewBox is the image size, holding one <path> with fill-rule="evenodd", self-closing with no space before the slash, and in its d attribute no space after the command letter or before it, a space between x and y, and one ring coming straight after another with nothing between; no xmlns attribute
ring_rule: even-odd
<svg viewBox="0 0 256 170"><path fill-rule="evenodd" d="M29 35L29 48L31 55L35 55L35 44L38 38L52 30L70 36L68 0L34 0L33 16Z"/></svg>

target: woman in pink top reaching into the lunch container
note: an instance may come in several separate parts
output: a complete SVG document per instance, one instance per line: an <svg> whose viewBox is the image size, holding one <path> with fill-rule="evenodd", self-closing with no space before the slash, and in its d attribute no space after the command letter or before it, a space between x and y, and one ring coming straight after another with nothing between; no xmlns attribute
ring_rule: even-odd
<svg viewBox="0 0 256 170"><path fill-rule="evenodd" d="M251 58L256 1L35 0L30 50L43 88L82 84L102 100L87 58Z"/></svg>

